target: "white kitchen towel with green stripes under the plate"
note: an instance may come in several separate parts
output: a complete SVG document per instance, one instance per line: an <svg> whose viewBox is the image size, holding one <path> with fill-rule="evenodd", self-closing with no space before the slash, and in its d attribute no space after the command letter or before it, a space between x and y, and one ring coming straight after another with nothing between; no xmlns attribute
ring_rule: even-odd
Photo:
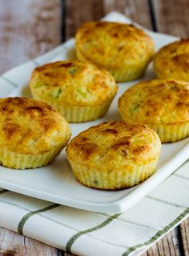
<svg viewBox="0 0 189 256"><path fill-rule="evenodd" d="M189 215L189 161L126 213L0 191L0 226L78 255L139 255Z"/></svg>

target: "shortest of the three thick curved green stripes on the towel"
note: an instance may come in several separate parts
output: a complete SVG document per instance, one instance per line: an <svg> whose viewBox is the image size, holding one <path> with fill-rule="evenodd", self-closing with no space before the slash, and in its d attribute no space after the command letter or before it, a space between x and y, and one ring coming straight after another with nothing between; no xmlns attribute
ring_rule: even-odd
<svg viewBox="0 0 189 256"><path fill-rule="evenodd" d="M34 216L35 214L43 213L43 212L49 211L51 209L57 208L58 206L60 206L60 204L51 204L50 206L47 206L43 209L39 209L39 210L30 212L30 213L27 213L24 217L22 217L22 220L18 224L18 233L23 234L23 227L24 227L26 221L30 217Z"/></svg>

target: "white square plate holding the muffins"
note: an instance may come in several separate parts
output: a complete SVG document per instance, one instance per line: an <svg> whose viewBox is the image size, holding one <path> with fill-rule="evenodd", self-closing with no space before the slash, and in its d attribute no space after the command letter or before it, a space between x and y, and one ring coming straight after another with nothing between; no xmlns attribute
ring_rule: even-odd
<svg viewBox="0 0 189 256"><path fill-rule="evenodd" d="M122 14L118 13L108 14L106 19L131 23ZM173 36L151 31L147 31L147 33L154 39L156 50L177 39ZM14 92L9 95L10 97L31 97L27 82L36 63L44 64L54 60L73 58L75 58L74 39L70 39L62 46L56 47L45 55L3 74L0 77L0 96L6 97L14 87L18 87L18 89L14 89ZM152 65L150 65L143 80L153 77L155 77L155 73L153 72ZM94 122L71 124L72 136L74 137L82 130L86 130L88 127L94 126L99 122L119 120L120 116L117 108L118 98L126 89L137 82L119 84L119 92L107 115ZM118 191L103 191L87 188L79 184L70 171L65 151L62 151L61 155L46 167L26 171L15 171L6 167L0 167L0 187L78 209L103 213L122 213L146 196L147 193L166 179L168 175L171 175L188 157L189 138L183 139L180 142L163 144L163 151L159 158L157 170L148 180L133 188Z"/></svg>

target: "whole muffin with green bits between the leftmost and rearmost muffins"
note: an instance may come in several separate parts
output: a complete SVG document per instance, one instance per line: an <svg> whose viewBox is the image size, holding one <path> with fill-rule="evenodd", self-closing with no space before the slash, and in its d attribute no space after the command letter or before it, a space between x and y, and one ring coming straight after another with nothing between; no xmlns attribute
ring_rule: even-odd
<svg viewBox="0 0 189 256"><path fill-rule="evenodd" d="M117 93L115 79L109 72L78 60L35 68L30 89L34 99L52 105L68 122L103 117Z"/></svg>

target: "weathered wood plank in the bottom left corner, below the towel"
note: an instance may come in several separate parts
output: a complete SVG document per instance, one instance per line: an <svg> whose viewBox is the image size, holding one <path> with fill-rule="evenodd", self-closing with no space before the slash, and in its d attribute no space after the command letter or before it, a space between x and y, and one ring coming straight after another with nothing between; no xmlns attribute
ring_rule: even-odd
<svg viewBox="0 0 189 256"><path fill-rule="evenodd" d="M8 229L0 228L0 254L3 256L56 256L57 249L47 246L32 238L14 233Z"/></svg>

